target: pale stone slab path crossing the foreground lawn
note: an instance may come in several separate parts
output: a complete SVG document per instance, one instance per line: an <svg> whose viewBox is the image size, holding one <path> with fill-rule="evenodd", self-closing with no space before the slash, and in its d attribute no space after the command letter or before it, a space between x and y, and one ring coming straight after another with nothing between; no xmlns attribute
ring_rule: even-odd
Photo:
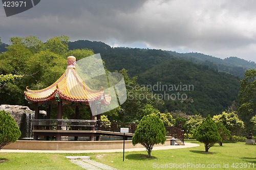
<svg viewBox="0 0 256 170"><path fill-rule="evenodd" d="M109 169L109 170L118 170L111 166L105 165L103 163L90 160L89 156L66 156L72 163L75 163L81 166L84 169L88 170L100 170L100 169Z"/></svg>

